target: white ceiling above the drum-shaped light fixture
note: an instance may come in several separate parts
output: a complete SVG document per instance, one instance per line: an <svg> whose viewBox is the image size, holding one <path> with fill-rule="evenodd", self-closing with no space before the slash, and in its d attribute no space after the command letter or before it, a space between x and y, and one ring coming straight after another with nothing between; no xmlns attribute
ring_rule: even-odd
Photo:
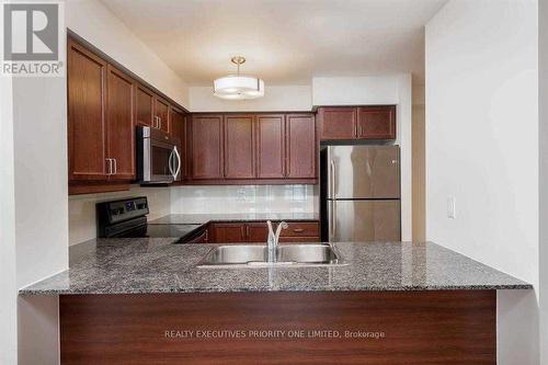
<svg viewBox="0 0 548 365"><path fill-rule="evenodd" d="M191 85L235 71L269 84L313 76L424 75L424 24L447 0L103 0Z"/></svg>

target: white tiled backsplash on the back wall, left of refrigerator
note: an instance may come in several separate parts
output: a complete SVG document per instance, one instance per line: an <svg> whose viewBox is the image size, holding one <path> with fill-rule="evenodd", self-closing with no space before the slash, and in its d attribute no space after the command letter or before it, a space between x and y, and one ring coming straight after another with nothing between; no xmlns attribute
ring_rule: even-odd
<svg viewBox="0 0 548 365"><path fill-rule="evenodd" d="M316 185L173 186L172 214L318 210Z"/></svg>

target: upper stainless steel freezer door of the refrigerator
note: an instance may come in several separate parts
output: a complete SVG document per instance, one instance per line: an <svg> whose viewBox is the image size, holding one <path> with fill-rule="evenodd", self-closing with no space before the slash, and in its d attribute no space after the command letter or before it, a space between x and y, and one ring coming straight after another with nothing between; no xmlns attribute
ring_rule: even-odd
<svg viewBox="0 0 548 365"><path fill-rule="evenodd" d="M399 146L330 146L328 198L399 198Z"/></svg>

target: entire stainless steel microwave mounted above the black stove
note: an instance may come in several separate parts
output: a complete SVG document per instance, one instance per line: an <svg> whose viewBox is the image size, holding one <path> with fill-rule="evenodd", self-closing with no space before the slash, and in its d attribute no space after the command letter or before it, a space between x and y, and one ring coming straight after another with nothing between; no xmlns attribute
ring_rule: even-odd
<svg viewBox="0 0 548 365"><path fill-rule="evenodd" d="M181 140L163 130L137 127L137 180L170 184L181 180Z"/></svg>

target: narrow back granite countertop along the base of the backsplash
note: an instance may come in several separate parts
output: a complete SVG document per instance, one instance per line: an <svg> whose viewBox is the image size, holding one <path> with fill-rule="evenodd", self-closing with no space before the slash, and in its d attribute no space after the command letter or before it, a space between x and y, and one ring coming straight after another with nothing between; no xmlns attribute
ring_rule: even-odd
<svg viewBox="0 0 548 365"><path fill-rule="evenodd" d="M210 221L248 220L319 220L317 213L219 213L219 214L171 214L152 219L149 225L204 225Z"/></svg>

